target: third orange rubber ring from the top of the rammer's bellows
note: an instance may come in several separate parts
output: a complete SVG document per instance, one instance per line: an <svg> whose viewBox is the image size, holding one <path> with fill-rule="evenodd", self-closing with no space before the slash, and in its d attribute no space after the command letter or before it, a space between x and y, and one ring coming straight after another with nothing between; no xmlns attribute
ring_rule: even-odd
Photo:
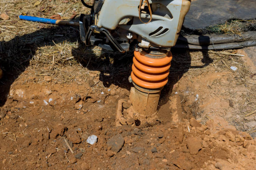
<svg viewBox="0 0 256 170"><path fill-rule="evenodd" d="M164 80L169 75L169 70L161 74L145 73L145 72L142 72L141 70L138 70L134 64L132 65L132 70L133 70L133 74L135 74L137 77L141 78L142 80L148 80L148 81L161 81L161 80Z"/></svg>

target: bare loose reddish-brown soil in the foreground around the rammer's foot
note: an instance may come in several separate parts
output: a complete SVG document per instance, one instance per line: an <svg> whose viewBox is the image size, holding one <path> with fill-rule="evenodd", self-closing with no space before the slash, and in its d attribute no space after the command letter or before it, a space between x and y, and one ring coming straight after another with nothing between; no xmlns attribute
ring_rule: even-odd
<svg viewBox="0 0 256 170"><path fill-rule="evenodd" d="M126 89L110 86L92 93L87 84L22 82L13 84L1 107L1 169L256 168L256 140L222 117L201 125L182 115L177 115L180 121L161 120L166 114L161 112L152 124L116 128L116 103L128 99ZM90 135L97 136L97 143L86 142Z"/></svg>

